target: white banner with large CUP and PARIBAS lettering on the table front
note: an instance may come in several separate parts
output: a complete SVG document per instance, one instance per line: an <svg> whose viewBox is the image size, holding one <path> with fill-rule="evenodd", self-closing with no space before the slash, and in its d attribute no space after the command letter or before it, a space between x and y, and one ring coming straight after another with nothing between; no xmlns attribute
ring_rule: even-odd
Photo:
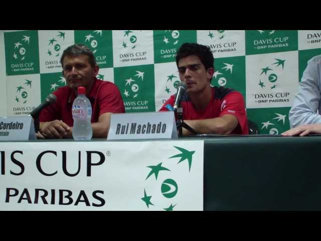
<svg viewBox="0 0 321 241"><path fill-rule="evenodd" d="M0 143L0 210L203 210L203 152L181 140Z"/></svg>

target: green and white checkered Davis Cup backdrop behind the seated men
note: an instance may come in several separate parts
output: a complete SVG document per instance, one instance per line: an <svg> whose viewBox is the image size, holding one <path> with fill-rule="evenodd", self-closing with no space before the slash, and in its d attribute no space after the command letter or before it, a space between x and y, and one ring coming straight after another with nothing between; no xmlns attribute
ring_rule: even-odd
<svg viewBox="0 0 321 241"><path fill-rule="evenodd" d="M240 91L261 134L289 129L288 111L311 57L321 54L320 30L31 30L5 31L8 116L26 116L66 80L63 50L87 45L114 82L126 112L157 111L180 82L175 55L185 42L211 48L212 85Z"/></svg>

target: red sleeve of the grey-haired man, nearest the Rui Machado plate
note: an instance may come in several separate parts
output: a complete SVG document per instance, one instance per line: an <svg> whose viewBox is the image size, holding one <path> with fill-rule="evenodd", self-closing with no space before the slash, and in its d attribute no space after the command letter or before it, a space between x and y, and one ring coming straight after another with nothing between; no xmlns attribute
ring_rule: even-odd
<svg viewBox="0 0 321 241"><path fill-rule="evenodd" d="M107 112L124 113L125 107L118 87L113 83L102 84L99 89L99 115Z"/></svg>

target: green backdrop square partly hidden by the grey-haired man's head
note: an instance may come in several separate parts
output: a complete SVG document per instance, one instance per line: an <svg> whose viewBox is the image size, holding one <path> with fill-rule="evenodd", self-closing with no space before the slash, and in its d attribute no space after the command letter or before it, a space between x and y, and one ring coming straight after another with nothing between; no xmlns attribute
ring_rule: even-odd
<svg viewBox="0 0 321 241"><path fill-rule="evenodd" d="M113 67L111 30L75 30L74 33L75 42L91 49L100 68Z"/></svg>

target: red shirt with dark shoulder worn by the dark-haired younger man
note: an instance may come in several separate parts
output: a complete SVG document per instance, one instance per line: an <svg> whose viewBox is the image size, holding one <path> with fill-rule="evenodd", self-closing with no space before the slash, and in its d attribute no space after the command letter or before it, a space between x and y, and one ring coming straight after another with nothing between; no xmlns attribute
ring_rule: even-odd
<svg viewBox="0 0 321 241"><path fill-rule="evenodd" d="M212 87L212 101L203 110L194 108L190 98L185 93L182 98L181 106L183 107L183 119L209 119L223 116L224 114L232 114L238 120L237 127L232 131L231 135L248 135L247 117L245 112L245 103L242 94L233 89L224 87ZM174 105L176 94L164 103L159 111L168 111L167 104Z"/></svg>

